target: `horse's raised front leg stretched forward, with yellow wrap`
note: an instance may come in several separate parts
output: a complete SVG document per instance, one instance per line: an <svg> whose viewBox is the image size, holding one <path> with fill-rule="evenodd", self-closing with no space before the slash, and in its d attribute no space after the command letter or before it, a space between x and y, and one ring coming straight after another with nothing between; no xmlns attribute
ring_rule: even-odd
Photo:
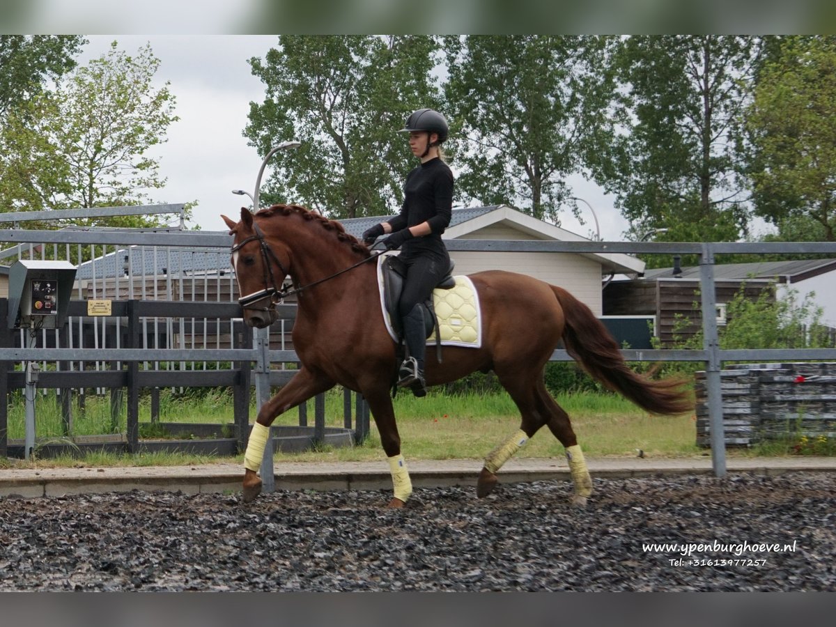
<svg viewBox="0 0 836 627"><path fill-rule="evenodd" d="M270 438L270 425L276 420L276 416L332 387L333 380L303 367L293 375L288 385L258 410L256 422L247 441L247 452L244 454L244 502L250 502L261 494L262 481L256 473L261 467L264 449Z"/></svg>

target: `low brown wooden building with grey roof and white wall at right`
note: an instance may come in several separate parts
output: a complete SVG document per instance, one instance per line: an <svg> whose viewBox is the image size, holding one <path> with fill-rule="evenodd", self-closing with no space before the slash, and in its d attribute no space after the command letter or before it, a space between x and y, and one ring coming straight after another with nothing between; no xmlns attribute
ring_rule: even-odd
<svg viewBox="0 0 836 627"><path fill-rule="evenodd" d="M804 298L823 309L821 322L836 328L836 259L785 262L728 263L714 267L717 324L726 324L726 304L741 288L747 298L759 298L764 289L774 289L774 298ZM604 288L604 314L647 315L655 323L662 344L674 340L676 320L689 319L687 337L701 326L700 268L655 268L644 277L614 280Z"/></svg>

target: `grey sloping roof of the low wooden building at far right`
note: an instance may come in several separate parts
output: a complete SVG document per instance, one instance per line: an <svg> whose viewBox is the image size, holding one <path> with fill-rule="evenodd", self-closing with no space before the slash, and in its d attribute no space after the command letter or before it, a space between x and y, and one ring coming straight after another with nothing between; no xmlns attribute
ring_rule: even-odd
<svg viewBox="0 0 836 627"><path fill-rule="evenodd" d="M745 281L777 279L778 283L798 283L805 278L812 278L819 274L836 270L836 259L802 259L798 261L782 262L752 262L752 263L724 263L714 267L714 278L717 281ZM655 281L658 279L675 278L673 268L653 268L645 271L642 280ZM682 268L679 278L700 278L700 268Z"/></svg>

